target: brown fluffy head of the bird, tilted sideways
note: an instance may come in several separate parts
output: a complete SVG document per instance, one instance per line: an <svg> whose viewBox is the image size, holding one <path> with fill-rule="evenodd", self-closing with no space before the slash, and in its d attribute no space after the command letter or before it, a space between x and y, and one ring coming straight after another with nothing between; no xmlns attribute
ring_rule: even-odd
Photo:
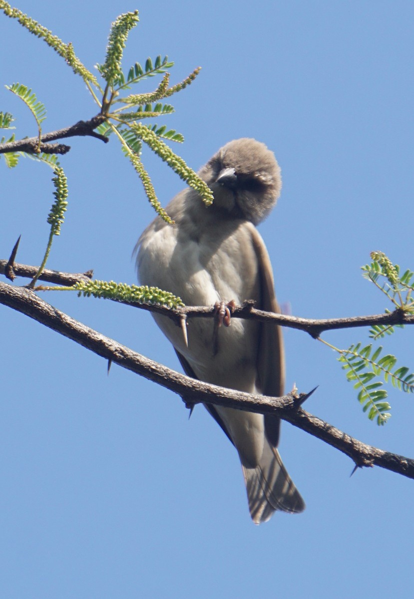
<svg viewBox="0 0 414 599"><path fill-rule="evenodd" d="M276 204L282 187L273 152L247 137L229 141L198 174L214 193L213 206L255 225Z"/></svg>

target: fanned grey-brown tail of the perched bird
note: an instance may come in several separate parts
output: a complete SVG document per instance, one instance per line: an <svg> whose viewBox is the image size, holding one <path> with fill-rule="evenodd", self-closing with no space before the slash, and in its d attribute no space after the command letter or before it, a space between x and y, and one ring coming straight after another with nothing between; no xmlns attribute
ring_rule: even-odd
<svg viewBox="0 0 414 599"><path fill-rule="evenodd" d="M255 468L241 467L250 516L255 524L266 522L276 510L303 512L305 503L286 471L279 452L267 440L259 464Z"/></svg>

